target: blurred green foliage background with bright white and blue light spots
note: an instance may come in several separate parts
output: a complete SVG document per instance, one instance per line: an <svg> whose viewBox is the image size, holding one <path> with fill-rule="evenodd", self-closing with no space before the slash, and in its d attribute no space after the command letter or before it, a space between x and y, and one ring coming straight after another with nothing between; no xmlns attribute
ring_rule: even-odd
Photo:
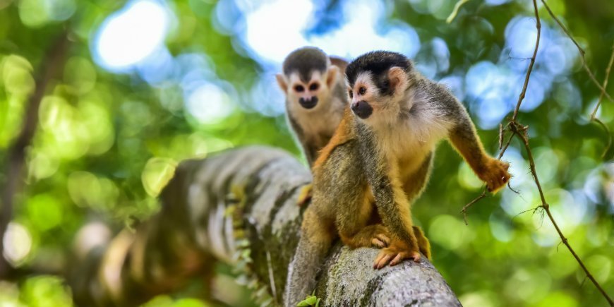
<svg viewBox="0 0 614 307"><path fill-rule="evenodd" d="M66 61L52 71L14 195L4 257L32 272L61 272L78 229L92 219L130 227L157 211L155 195L182 159L246 144L289 150L274 76L306 44L352 59L402 52L447 84L498 149L498 124L513 109L536 30L527 0L471 0L451 24L455 0L0 0L0 159L15 145L44 58L62 35ZM614 1L550 1L603 80L614 42ZM540 51L519 121L530 126L537 172L563 233L614 295L614 150L589 122L599 91L577 49L541 5ZM614 83L614 81L613 81ZM610 88L612 88L610 86ZM610 90L610 95L613 95ZM613 129L614 106L598 117ZM604 157L603 152L606 151ZM512 187L469 210L481 182L441 145L416 222L433 263L464 306L605 306L560 245L517 143L505 153ZM8 182L3 164L0 182ZM529 210L526 212L526 210ZM220 265L220 300L248 304ZM146 306L208 306L195 291ZM0 306L71 306L61 277L0 281Z"/></svg>

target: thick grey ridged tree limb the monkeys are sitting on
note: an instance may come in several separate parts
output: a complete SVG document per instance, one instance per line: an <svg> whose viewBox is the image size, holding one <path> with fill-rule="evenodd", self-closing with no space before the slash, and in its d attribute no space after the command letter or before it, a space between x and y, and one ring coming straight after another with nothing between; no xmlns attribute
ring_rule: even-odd
<svg viewBox="0 0 614 307"><path fill-rule="evenodd" d="M281 150L250 147L180 164L162 211L91 251L71 283L81 305L134 305L198 275L210 256L234 264L260 303L282 301L299 240L296 200L311 174ZM460 306L431 263L373 270L375 249L337 243L323 267L325 306Z"/></svg>

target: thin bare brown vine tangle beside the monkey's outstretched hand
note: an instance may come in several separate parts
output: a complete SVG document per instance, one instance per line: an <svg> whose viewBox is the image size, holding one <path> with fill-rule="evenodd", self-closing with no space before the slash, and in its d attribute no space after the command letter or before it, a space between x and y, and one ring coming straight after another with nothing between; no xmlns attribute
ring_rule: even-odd
<svg viewBox="0 0 614 307"><path fill-rule="evenodd" d="M583 64L584 68L586 69L586 72L589 73L589 76L591 77L591 80L593 80L593 82L601 90L601 97L605 96L605 97L608 97L609 100L612 100L610 98L610 96L608 95L608 93L606 92L606 90L605 90L605 88L607 86L607 78L608 78L608 76L606 76L606 80L604 81L604 85L603 86L597 82L597 80L594 77L593 73L591 73L591 71L589 70L588 66L586 66L586 60L584 59L584 49L582 49L577 44L577 42L570 35L569 31L567 31L567 29L565 28L565 26L563 26L562 23L560 23L560 20L558 20L558 18L556 18L556 16L554 16L552 11L550 11L550 8L548 7L548 4L546 4L546 1L541 0L541 2L544 4L544 6L546 6L546 9L548 10L548 13L550 13L550 16L552 16L553 19L556 20L556 22L558 23L558 25L560 25L560 27L565 32L565 34L567 34L567 36L569 36L570 39L574 42L576 47L578 47L580 55L581 55L581 58L582 58L582 64ZM537 176L537 171L536 171L536 167L535 167L535 160L534 160L534 157L533 157L533 153L531 152L531 146L529 145L529 133L528 133L529 126L524 126L522 124L519 124L519 122L516 120L518 112L519 112L519 109L520 109L520 105L522 104L522 100L524 100L524 96L526 95L526 88L527 88L527 85L529 84L529 78L531 76L531 71L533 70L533 66L535 64L535 59L536 59L537 51L538 51L538 48L539 48L539 39L540 39L540 36L541 36L541 21L539 19L539 13L538 13L538 8L537 8L537 0L533 0L533 6L534 6L535 18L536 18L537 40L536 40L536 43L535 43L535 49L534 49L534 52L533 52L533 56L531 56L531 64L529 64L529 68L526 71L526 77L524 78L524 85L522 87L522 92L520 92L520 95L518 97L518 102L516 104L516 108L514 109L514 114L513 114L512 118L510 119L510 121L508 121L507 125L505 125L505 128L502 128L502 126L500 126L499 148L502 148L502 139L505 136L505 132L506 131L510 131L512 133L512 135L507 140L507 143L505 144L505 147L502 148L501 152L499 153L499 159L503 156L503 154L505 153L505 150L507 150L507 148L509 147L510 142L512 141L512 138L514 136L517 136L520 140L522 140L524 148L526 149L527 158L529 159L529 166L530 166L530 169L531 169L531 175L533 175L533 179L534 179L535 185L536 185L537 190L539 192L539 197L541 198L541 205L539 205L538 207L541 207L541 208L543 208L544 211L546 211L546 215L548 215L548 219L550 219L550 222L552 222L553 226L555 227L555 229L556 229L556 231L557 231L557 233L558 233L562 243L565 244L565 246L567 246L567 249L570 251L570 253L572 253L572 255L574 256L574 258L576 259L576 261L580 265L580 267L582 267L582 270L584 270L584 273L586 274L586 277L589 280L591 280L591 282L593 282L595 287L598 289L599 292L601 292L601 294L608 301L610 306L614 306L614 301L612 301L612 299L610 298L610 296L608 296L606 291L603 290L603 287L601 287L601 284L599 284L596 281L596 279L593 277L591 272L589 272L589 269L586 268L586 265L584 265L584 262L582 262L582 260L579 258L577 253L574 251L574 249L572 248L570 243L567 241L567 238L565 237L565 235L562 234L562 231L558 227L557 222L555 221L552 213L550 212L550 205L548 205L548 203L546 202L546 197L543 195L543 190L541 188L541 183L539 183L539 179L538 179L538 176ZM610 57L610 64L608 64L606 75L609 75L610 67L612 65L612 61L614 61L613 59L614 59L614 52L613 52L613 56ZM597 105L597 107L598 107L598 105ZM594 112L596 112L596 110ZM596 121L601 123L601 121L599 121L594 116L591 116L591 119L594 119L594 120L596 120ZM603 125L603 123L601 123L601 124ZM605 125L603 125L603 126L605 126ZM609 133L609 131L608 131L608 133ZM608 145L608 147L609 147L609 145ZM478 200L481 200L484 197L486 197L486 190L483 191L482 194L479 195L476 199L471 200L470 203L466 204L462 208L461 212L464 215L465 223L466 223L466 210L468 210L469 207L471 207L471 205L473 205L474 203L477 203Z"/></svg>

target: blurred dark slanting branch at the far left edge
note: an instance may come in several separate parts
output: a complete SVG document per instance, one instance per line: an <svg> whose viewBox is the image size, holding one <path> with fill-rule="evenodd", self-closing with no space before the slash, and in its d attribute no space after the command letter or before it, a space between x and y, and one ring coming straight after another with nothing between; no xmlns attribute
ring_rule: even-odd
<svg viewBox="0 0 614 307"><path fill-rule="evenodd" d="M38 126L38 109L40 102L44 97L44 92L47 85L59 71L64 68L66 61L66 52L68 50L68 36L66 32L53 42L47 54L41 61L40 69L35 77L35 91L28 100L28 106L25 111L25 119L23 120L23 128L15 143L8 149L6 155L5 171L6 178L4 179L4 187L1 197L1 212L0 212L0 279L8 274L10 265L2 256L4 252L4 233L8 223L13 218L13 198L18 193L22 183L22 173L25 164L26 149L32 141L32 137Z"/></svg>

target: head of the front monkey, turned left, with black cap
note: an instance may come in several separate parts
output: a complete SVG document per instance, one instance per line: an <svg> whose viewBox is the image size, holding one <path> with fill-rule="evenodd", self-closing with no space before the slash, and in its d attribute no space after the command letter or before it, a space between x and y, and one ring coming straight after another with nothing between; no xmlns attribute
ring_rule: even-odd
<svg viewBox="0 0 614 307"><path fill-rule="evenodd" d="M413 73L411 61L396 52L359 56L346 68L350 109L367 124L397 119L403 109L411 109L406 96Z"/></svg>

